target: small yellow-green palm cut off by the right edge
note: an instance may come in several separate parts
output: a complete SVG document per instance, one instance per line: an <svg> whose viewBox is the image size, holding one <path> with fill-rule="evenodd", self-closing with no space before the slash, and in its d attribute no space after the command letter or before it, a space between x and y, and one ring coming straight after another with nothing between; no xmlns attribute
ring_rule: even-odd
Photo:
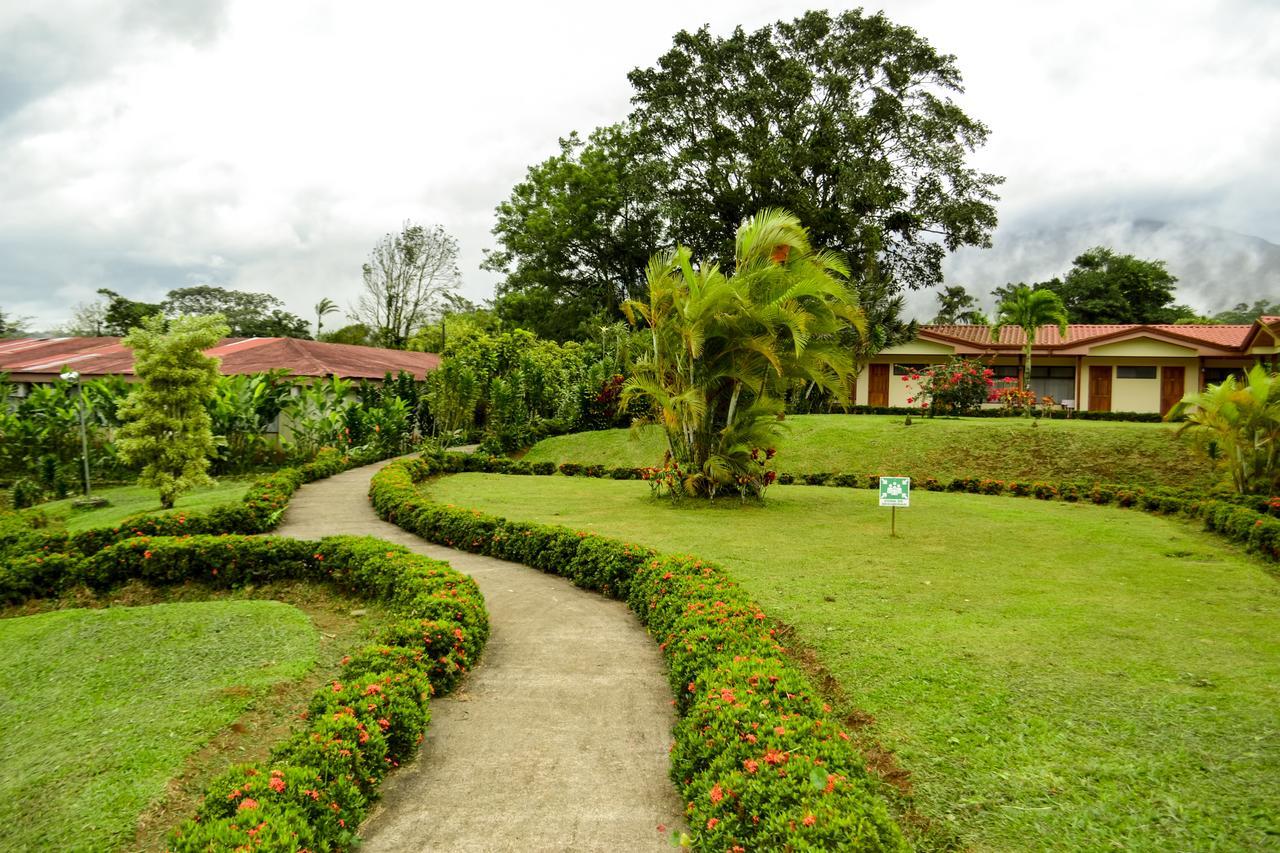
<svg viewBox="0 0 1280 853"><path fill-rule="evenodd" d="M1239 494L1274 494L1280 480L1280 377L1254 365L1244 379L1228 377L1188 394L1165 416L1181 420L1178 434L1207 434L1202 447L1225 459Z"/></svg>

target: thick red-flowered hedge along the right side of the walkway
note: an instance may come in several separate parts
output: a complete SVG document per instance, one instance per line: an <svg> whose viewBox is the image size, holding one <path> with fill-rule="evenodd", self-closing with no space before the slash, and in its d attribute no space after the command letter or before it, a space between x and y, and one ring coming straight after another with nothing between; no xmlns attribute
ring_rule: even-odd
<svg viewBox="0 0 1280 853"><path fill-rule="evenodd" d="M696 848L906 849L849 735L721 566L433 503L416 484L452 465L393 462L374 476L375 510L431 542L563 575L630 605L667 660L680 715L672 777Z"/></svg>

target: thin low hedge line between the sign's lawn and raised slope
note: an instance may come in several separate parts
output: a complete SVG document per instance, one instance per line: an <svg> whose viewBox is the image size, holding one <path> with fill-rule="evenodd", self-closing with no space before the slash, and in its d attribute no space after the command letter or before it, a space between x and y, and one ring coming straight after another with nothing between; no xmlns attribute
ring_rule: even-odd
<svg viewBox="0 0 1280 853"><path fill-rule="evenodd" d="M489 474L591 476L614 480L646 479L649 469L605 467L580 462L525 462L502 456L447 453L436 464L442 473L479 471ZM878 474L842 471L809 471L778 474L778 485L826 485L829 488L874 489ZM1180 515L1198 519L1204 529L1243 544L1268 562L1280 562L1280 497L1253 494L1203 494L1170 488L1146 488L1116 483L1048 483L1038 480L997 480L979 476L957 476L940 480L934 476L913 479L913 485L927 492L966 492L969 494L1004 494L1033 497L1041 501L1094 503L1138 508L1155 515Z"/></svg>

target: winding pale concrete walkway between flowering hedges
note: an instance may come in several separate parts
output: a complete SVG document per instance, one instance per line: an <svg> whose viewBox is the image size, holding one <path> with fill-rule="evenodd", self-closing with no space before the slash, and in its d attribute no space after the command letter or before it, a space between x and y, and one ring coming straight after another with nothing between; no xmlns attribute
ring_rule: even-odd
<svg viewBox="0 0 1280 853"><path fill-rule="evenodd" d="M667 776L675 715L631 611L383 521L367 498L379 467L302 487L276 533L367 534L447 560L480 584L492 633L480 666L431 702L426 742L383 785L360 849L671 850L684 812Z"/></svg>

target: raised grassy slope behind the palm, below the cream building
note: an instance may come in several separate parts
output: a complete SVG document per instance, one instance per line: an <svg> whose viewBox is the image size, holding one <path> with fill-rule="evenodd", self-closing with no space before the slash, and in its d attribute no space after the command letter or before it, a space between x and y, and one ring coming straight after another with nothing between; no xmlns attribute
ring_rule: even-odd
<svg viewBox="0 0 1280 853"><path fill-rule="evenodd" d="M1021 418L794 415L778 434L780 471L844 471L900 476L986 476L996 480L1089 480L1134 485L1207 485L1204 462L1167 424ZM655 465L659 430L557 435L535 444L530 462Z"/></svg>

